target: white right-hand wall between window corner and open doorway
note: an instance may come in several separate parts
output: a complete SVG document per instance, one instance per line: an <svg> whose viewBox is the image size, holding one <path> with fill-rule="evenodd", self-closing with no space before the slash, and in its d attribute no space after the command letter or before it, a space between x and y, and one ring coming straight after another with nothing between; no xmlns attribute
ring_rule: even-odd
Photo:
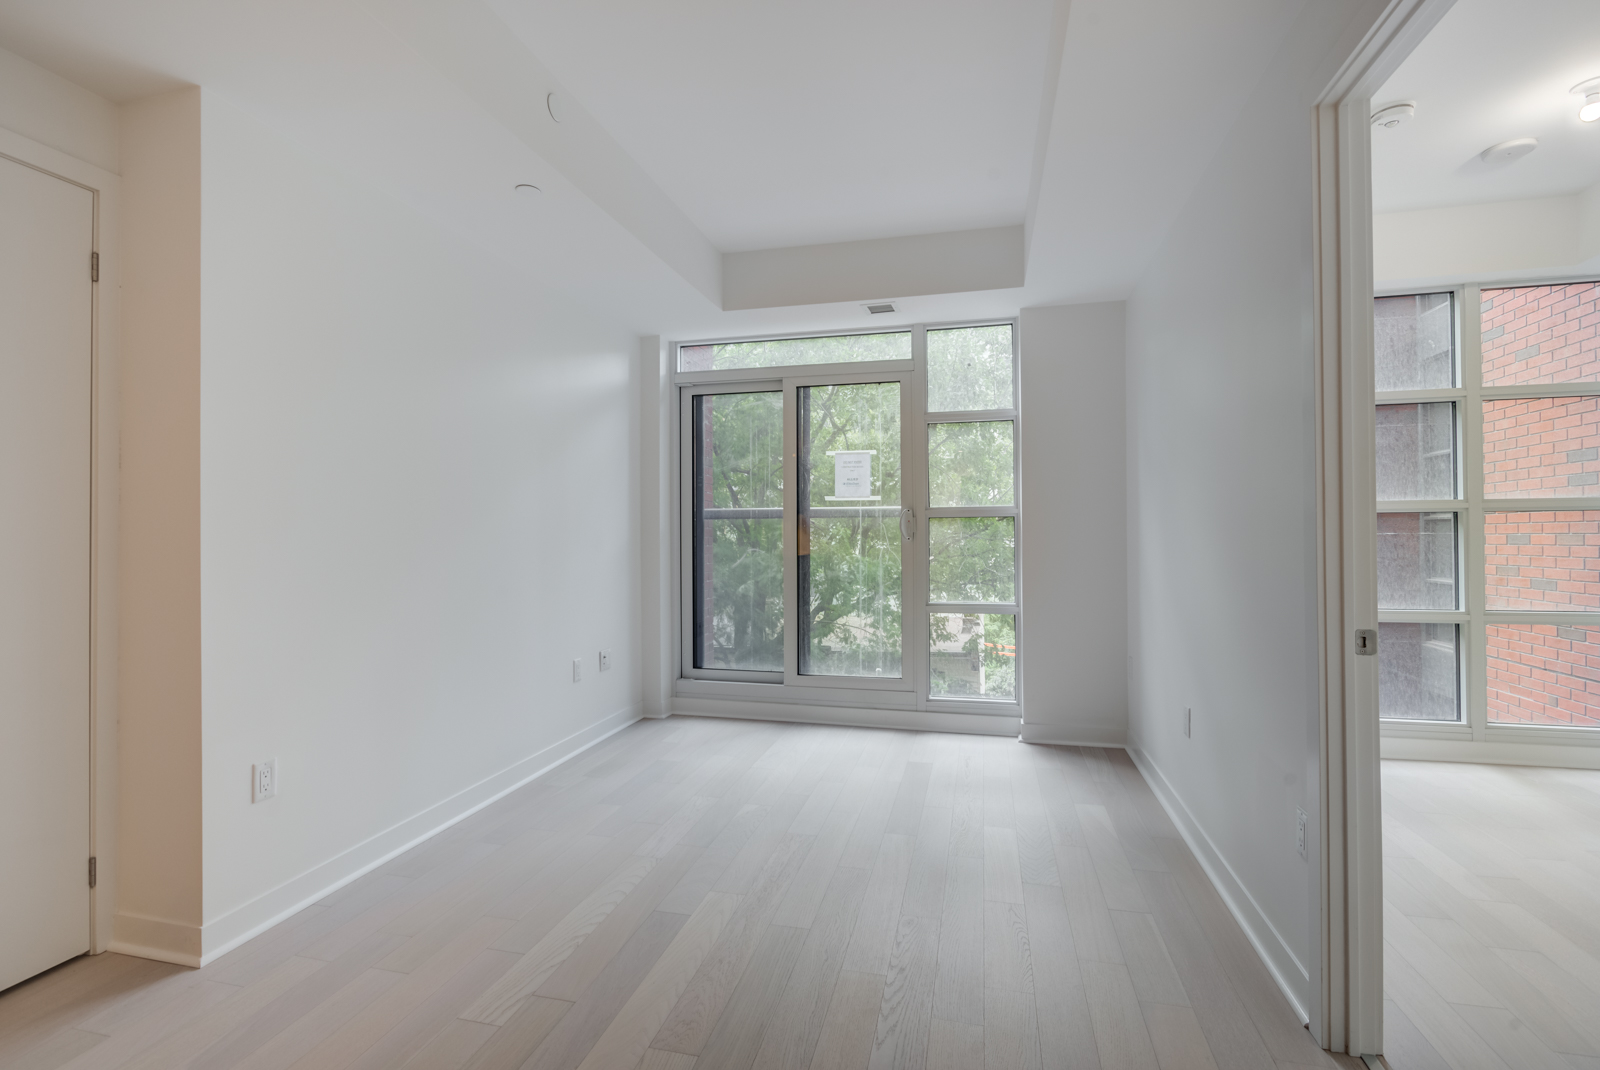
<svg viewBox="0 0 1600 1070"><path fill-rule="evenodd" d="M1302 1009L1320 926L1294 838L1296 808L1317 824L1320 718L1310 109L1381 8L1301 8L1128 301L1130 742Z"/></svg>

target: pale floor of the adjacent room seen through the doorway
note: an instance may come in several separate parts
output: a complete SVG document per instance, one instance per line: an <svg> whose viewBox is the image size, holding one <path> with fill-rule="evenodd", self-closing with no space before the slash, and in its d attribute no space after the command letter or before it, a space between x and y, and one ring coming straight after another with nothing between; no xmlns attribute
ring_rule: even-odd
<svg viewBox="0 0 1600 1070"><path fill-rule="evenodd" d="M1394 1070L1600 1070L1600 773L1384 763Z"/></svg>

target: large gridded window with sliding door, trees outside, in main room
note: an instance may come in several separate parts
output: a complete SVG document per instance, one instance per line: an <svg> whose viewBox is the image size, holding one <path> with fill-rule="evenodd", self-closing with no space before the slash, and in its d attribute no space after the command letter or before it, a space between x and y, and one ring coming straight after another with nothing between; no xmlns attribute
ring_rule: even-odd
<svg viewBox="0 0 1600 1070"><path fill-rule="evenodd" d="M1013 323L685 342L677 382L683 680L1014 715Z"/></svg>

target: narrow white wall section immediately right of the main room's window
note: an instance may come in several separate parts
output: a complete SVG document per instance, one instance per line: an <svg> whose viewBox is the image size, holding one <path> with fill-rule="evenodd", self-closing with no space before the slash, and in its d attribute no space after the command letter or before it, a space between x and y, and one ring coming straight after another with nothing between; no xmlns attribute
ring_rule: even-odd
<svg viewBox="0 0 1600 1070"><path fill-rule="evenodd" d="M1122 744L1128 529L1120 301L1022 309L1022 739Z"/></svg>

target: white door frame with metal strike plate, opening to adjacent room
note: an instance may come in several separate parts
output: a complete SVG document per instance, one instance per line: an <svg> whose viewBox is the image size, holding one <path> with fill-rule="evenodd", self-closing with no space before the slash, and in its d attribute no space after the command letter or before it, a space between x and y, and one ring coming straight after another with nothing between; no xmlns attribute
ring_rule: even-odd
<svg viewBox="0 0 1600 1070"><path fill-rule="evenodd" d="M1454 0L1392 0L1312 107L1322 672L1318 1000L1323 1048L1382 1051L1382 800L1373 392L1371 96Z"/></svg>

